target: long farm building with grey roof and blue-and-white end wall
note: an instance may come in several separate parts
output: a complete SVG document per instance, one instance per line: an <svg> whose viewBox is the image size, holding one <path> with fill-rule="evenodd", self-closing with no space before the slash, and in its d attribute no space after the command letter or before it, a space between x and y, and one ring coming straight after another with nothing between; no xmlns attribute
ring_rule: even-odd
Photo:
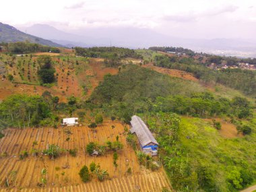
<svg viewBox="0 0 256 192"><path fill-rule="evenodd" d="M152 156L158 154L158 141L156 141L147 125L136 115L131 117L130 131L137 135L141 149L144 153L151 154Z"/></svg>

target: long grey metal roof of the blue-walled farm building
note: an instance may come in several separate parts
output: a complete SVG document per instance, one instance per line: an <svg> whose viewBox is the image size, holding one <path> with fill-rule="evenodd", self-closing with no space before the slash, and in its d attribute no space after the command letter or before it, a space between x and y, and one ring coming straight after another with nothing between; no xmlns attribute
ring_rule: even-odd
<svg viewBox="0 0 256 192"><path fill-rule="evenodd" d="M131 126L130 131L131 133L136 133L141 146L146 146L149 143L159 145L158 141L156 141L155 137L150 132L150 129L148 129L147 125L137 117L137 115L133 115L133 117L131 117Z"/></svg>

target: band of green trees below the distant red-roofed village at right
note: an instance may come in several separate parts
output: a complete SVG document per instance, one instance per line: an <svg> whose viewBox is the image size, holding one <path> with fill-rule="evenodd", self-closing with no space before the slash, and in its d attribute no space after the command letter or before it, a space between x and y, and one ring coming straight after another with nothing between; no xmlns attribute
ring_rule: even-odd
<svg viewBox="0 0 256 192"><path fill-rule="evenodd" d="M171 58L164 55L157 55L154 58L154 65L193 73L195 77L212 86L222 84L241 90L245 94L256 94L256 71L245 69L222 69L216 71L195 62L189 63L188 59L173 62Z"/></svg>

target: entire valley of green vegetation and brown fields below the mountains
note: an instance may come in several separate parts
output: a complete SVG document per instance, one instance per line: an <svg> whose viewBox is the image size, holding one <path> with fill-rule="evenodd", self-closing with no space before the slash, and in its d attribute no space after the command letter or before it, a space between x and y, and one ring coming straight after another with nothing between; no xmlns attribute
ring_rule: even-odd
<svg viewBox="0 0 256 192"><path fill-rule="evenodd" d="M238 191L255 181L255 88L231 84L253 71L152 50L26 46L0 54L0 191ZM139 153L133 115L158 156ZM78 125L61 127L67 117ZM106 176L90 170L84 183L92 162Z"/></svg>

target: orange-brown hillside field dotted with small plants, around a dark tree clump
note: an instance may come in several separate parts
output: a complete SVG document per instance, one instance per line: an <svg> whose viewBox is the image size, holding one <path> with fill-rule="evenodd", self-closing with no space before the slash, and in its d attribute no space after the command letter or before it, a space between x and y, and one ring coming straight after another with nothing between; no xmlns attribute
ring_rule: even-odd
<svg viewBox="0 0 256 192"><path fill-rule="evenodd" d="M51 84L51 88L40 86L37 75L40 65L36 62L38 55L53 56L51 59L56 70L56 81ZM1 55L1 57L7 63L6 65L2 64L5 65L7 73L13 75L13 83L0 76L0 100L11 94L42 95L46 90L54 96L59 96L60 102L66 102L69 96L88 98L94 88L103 80L104 75L115 74L118 71L118 69L104 67L102 59L86 59L71 55L66 57L53 53L36 53L24 57L12 58L8 55Z"/></svg>

